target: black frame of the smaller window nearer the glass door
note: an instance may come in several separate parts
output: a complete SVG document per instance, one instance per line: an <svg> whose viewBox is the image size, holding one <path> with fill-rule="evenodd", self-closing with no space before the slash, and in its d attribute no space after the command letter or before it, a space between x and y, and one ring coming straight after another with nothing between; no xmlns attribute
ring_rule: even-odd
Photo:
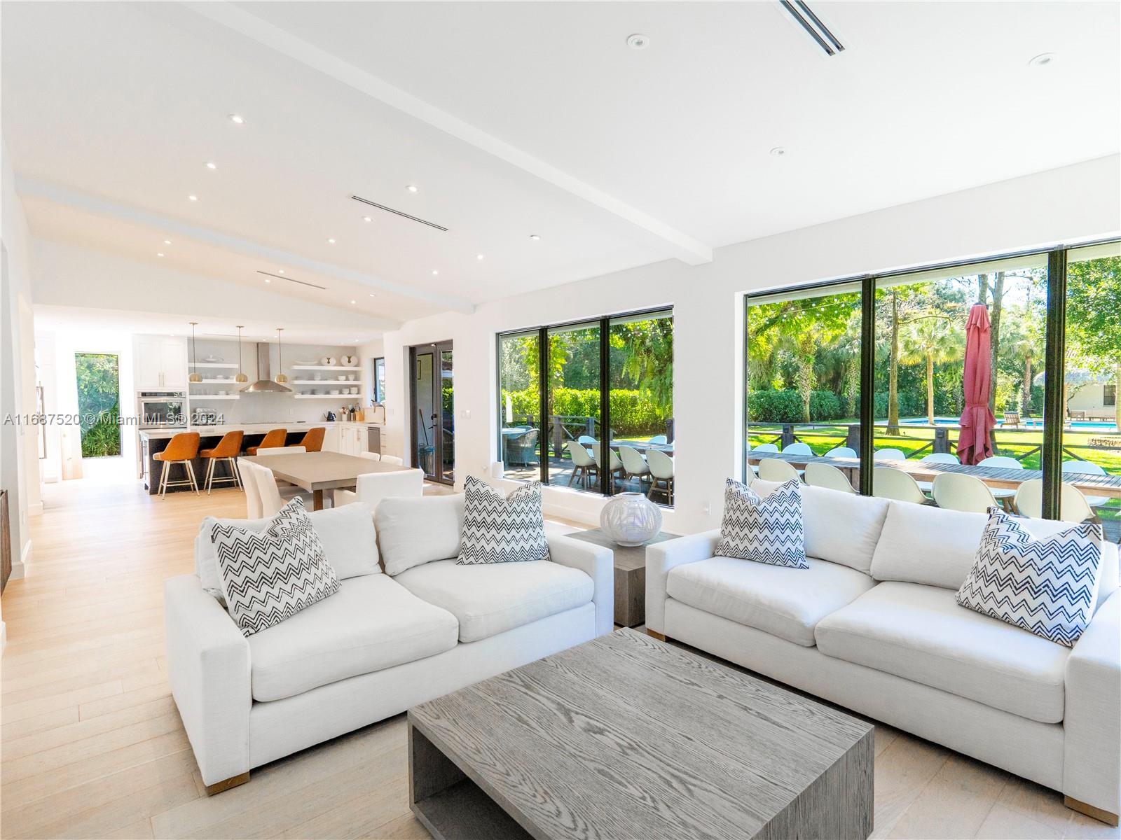
<svg viewBox="0 0 1121 840"><path fill-rule="evenodd" d="M549 385L548 385L548 363L549 363L549 332L554 329L564 329L566 327L580 327L580 326L599 326L600 328L600 431L601 439L606 440L610 446L611 436L611 323L620 318L640 318L642 316L665 316L669 315L669 318L675 318L674 305L668 304L666 306L657 306L645 309L629 309L622 312L612 312L610 315L599 315L589 318L575 318L573 320L557 321L555 324L543 324L536 327L522 327L520 329L507 329L494 335L494 377L498 383L498 403L495 417L499 422L497 423L498 432L498 454L502 455L502 417L506 407L502 404L502 339L508 336L525 336L537 334L537 370L538 370L538 418L539 418L539 433L537 437L537 445L540 448L538 452L538 460L540 467L540 474L538 479L544 486L556 486L549 485L549 458L548 458L548 439L546 437L548 430L545 428L548 417L549 417ZM674 355L676 358L676 345L674 348ZM676 392L675 392L676 399ZM610 497L614 495L612 491L611 475L608 470L601 469L600 473L600 486L599 491L584 491L581 488L573 488L580 493L591 493L593 495ZM510 480L517 480L512 478ZM676 491L674 493L676 496ZM656 503L660 504L660 503ZM674 507L671 504L663 504L663 507Z"/></svg>

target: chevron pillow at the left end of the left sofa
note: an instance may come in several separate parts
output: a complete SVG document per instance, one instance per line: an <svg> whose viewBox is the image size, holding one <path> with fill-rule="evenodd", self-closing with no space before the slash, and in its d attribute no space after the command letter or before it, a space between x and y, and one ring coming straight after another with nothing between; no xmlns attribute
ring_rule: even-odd
<svg viewBox="0 0 1121 840"><path fill-rule="evenodd" d="M263 531L215 524L211 532L226 609L247 636L339 591L319 535L299 498Z"/></svg>

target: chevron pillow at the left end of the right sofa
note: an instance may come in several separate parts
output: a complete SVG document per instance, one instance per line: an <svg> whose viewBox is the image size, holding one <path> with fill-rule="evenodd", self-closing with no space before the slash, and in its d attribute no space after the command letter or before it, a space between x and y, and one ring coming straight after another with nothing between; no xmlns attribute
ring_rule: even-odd
<svg viewBox="0 0 1121 840"><path fill-rule="evenodd" d="M729 478L716 556L808 569L798 486L791 478L760 498L748 485Z"/></svg>

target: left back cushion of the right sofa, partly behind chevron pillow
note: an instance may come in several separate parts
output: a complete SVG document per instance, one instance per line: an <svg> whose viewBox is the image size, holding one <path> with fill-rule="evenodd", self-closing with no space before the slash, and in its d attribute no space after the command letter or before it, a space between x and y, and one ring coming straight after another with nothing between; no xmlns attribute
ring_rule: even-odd
<svg viewBox="0 0 1121 840"><path fill-rule="evenodd" d="M778 484L757 479L751 486L765 495ZM888 514L888 500L808 485L800 491L806 554L867 573Z"/></svg>

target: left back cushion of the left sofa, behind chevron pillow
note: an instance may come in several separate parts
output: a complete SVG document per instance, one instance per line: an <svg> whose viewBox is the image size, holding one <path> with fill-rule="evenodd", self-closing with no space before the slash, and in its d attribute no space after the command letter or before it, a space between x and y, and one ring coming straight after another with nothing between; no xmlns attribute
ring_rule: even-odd
<svg viewBox="0 0 1121 840"><path fill-rule="evenodd" d="M335 570L340 580L373 575L381 571L378 566L378 540L373 530L373 517L369 510L356 505L308 511L308 519L315 533L323 543L323 552L327 562ZM245 531L263 531L269 526L270 519L232 520L206 516L195 536L195 575L202 581L203 589L219 600L222 596L222 580L217 571L217 556L211 542L214 525L233 525Z"/></svg>

